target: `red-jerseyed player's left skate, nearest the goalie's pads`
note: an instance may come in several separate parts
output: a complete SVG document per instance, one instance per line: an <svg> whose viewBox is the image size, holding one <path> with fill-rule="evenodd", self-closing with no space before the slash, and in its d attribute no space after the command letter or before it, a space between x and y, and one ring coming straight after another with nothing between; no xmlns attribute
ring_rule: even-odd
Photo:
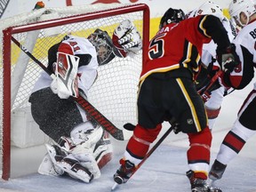
<svg viewBox="0 0 256 192"><path fill-rule="evenodd" d="M133 172L135 172L136 170L135 165L132 164L132 162L130 162L129 160L125 161L124 159L121 159L120 164L120 168L114 174L114 180L117 184L127 182L127 180L129 180L132 176Z"/></svg>

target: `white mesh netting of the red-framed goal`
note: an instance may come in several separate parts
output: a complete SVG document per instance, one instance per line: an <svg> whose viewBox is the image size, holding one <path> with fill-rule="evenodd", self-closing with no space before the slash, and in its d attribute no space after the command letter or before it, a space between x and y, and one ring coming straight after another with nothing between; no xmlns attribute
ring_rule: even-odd
<svg viewBox="0 0 256 192"><path fill-rule="evenodd" d="M67 8L51 8L40 9L22 14L18 17L4 20L1 26L1 47L3 52L3 29L10 26L27 25L31 22L40 20L52 20L56 18L65 18L67 16L84 14L85 12L99 12L100 10L118 8L120 4L101 4L101 5L86 5ZM123 4L123 7L130 7L128 4ZM118 10L118 9L117 9ZM97 11L97 12L96 12ZM44 65L47 65L48 49L56 43L59 43L63 36L71 34L74 36L87 37L96 28L108 31L109 36L112 36L114 29L122 20L132 20L136 28L142 35L143 28L143 12L136 11L100 18L97 20L85 20L76 23L68 23L56 28L44 28L41 30L32 30L24 33L12 35L20 44L23 44L29 52L31 52L37 60L40 60ZM58 33L56 36L51 36L52 33ZM3 57L0 56L0 89L3 97ZM20 48L12 43L11 48L12 62L12 115L23 108L29 108L28 97L31 93L36 79L38 78L41 68L28 56L20 51ZM136 122L136 99L137 99L137 84L139 82L140 69L142 65L142 51L134 57L120 59L115 58L110 64L99 68L99 77L93 84L88 99L92 105L99 109L113 124L122 129L124 123ZM3 106L3 100L0 101ZM27 109L25 110L27 111ZM15 116L12 116L14 121ZM3 108L1 108L1 128L0 141L3 138ZM11 124L13 125L13 124ZM25 125L26 126L26 125ZM12 127L13 129L13 127ZM37 129L37 127L36 127ZM15 135L17 137L17 135ZM12 137L13 138L13 137ZM13 143L13 142L12 142ZM3 142L0 146L3 154ZM2 155L0 156L2 157ZM2 162L2 160L1 160Z"/></svg>

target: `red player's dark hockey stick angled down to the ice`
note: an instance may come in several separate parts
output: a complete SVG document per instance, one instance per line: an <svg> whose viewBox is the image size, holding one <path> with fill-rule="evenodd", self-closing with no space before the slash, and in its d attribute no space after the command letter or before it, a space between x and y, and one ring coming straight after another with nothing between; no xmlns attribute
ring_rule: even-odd
<svg viewBox="0 0 256 192"><path fill-rule="evenodd" d="M170 122L171 122L171 121L170 121ZM156 150L156 148L158 148L159 145L165 140L165 138L172 132L172 129L173 129L173 127L171 126L171 127L164 133L164 135L163 135L159 140L157 140L156 144L155 144L152 148L150 148L150 150L148 151L148 153L146 154L146 156L144 156L144 158L142 159L142 161L140 162L140 164L137 165L137 169L136 169L134 172L132 172L132 175L133 175L135 172L137 172L138 169L140 168L140 166L141 166L142 164L144 164L144 163L147 161L148 157L152 155L152 153ZM131 177L132 177L132 175L131 175ZM129 178L129 180L131 179L131 177ZM117 187L117 185L119 185L119 184L118 184L117 182L115 182L115 184L113 185L113 187L111 188L111 190L115 190L115 188Z"/></svg>

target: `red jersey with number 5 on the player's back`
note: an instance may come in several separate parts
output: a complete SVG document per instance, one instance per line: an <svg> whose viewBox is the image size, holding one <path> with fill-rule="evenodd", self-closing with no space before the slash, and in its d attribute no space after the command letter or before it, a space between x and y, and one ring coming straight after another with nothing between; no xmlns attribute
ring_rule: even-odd
<svg viewBox="0 0 256 192"><path fill-rule="evenodd" d="M207 17L199 15L161 28L149 43L148 58L143 65L140 81L152 73L177 68L198 71L203 44L212 40L203 27Z"/></svg>

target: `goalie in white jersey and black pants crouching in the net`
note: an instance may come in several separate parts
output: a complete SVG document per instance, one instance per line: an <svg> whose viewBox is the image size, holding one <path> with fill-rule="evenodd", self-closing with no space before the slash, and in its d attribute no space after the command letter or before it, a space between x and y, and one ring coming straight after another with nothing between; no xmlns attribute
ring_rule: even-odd
<svg viewBox="0 0 256 192"><path fill-rule="evenodd" d="M140 50L140 33L131 20L122 21L112 38L97 28L87 38L68 35L52 45L47 68L55 76L42 72L29 97L36 124L53 140L45 145L47 154L39 173L68 175L86 183L100 177L113 152L108 132L86 116L72 97L86 98L99 66Z"/></svg>

